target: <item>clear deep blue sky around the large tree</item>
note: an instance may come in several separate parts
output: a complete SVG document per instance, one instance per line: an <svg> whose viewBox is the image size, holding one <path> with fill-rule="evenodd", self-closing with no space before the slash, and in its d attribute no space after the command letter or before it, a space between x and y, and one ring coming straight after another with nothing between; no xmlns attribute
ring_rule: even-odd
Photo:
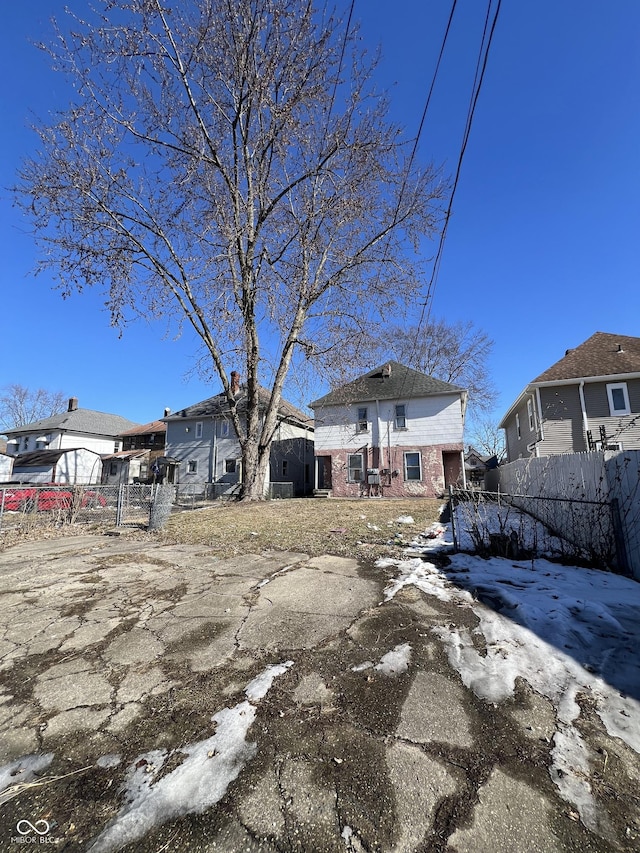
<svg viewBox="0 0 640 853"><path fill-rule="evenodd" d="M145 422L217 393L193 375L194 342L159 321L118 338L97 293L62 300L29 275L32 238L6 187L64 103L30 40L65 0L3 9L0 55L0 385L61 390ZM88 0L74 0L83 8ZM338 0L347 8L347 0ZM485 4L460 0L419 156L455 168ZM390 9L393 10L390 13ZM356 0L393 117L417 130L450 10L445 0ZM437 279L432 313L495 341L498 419L522 387L595 331L639 335L640 3L504 0ZM319 396L323 389L311 393Z"/></svg>

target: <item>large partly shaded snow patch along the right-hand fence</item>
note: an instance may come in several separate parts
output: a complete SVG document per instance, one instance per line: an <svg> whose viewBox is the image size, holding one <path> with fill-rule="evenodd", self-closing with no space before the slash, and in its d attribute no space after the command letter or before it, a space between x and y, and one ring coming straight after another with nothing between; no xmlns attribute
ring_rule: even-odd
<svg viewBox="0 0 640 853"><path fill-rule="evenodd" d="M385 600L413 585L473 609L486 656L476 651L467 629L450 624L433 629L451 665L485 701L513 695L515 679L521 677L553 703L558 730L551 777L585 825L595 829L589 750L574 725L580 713L577 698L581 693L591 697L608 733L640 752L640 584L545 559L458 553L445 567L426 561L430 553L451 546L450 527L433 525L407 549L407 559L379 561L382 567L396 566ZM418 553L423 556L412 556Z"/></svg>

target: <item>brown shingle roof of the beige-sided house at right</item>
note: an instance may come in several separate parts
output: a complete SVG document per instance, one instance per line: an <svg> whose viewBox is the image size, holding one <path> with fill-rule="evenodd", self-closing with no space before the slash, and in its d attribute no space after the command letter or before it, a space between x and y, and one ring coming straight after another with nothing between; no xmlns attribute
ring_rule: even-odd
<svg viewBox="0 0 640 853"><path fill-rule="evenodd" d="M596 332L537 376L531 384L640 372L640 338Z"/></svg>

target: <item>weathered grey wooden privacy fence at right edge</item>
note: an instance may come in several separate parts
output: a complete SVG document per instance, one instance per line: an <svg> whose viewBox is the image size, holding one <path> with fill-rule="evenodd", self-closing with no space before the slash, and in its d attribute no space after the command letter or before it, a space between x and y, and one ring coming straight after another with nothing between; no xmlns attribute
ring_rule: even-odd
<svg viewBox="0 0 640 853"><path fill-rule="evenodd" d="M592 535L593 504L608 504L611 527L600 535L616 543L616 568L640 580L639 450L517 459L500 467L499 489L519 498L526 511L527 498L559 499L549 502L548 523L578 539Z"/></svg>

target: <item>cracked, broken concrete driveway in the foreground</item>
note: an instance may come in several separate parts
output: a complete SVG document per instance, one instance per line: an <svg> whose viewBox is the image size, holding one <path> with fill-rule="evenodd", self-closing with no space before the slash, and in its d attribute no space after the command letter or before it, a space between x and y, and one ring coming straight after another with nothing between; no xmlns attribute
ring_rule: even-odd
<svg viewBox="0 0 640 853"><path fill-rule="evenodd" d="M383 604L389 577L109 536L0 553L0 849L633 849L559 798L547 700L463 687L432 628L472 611Z"/></svg>

